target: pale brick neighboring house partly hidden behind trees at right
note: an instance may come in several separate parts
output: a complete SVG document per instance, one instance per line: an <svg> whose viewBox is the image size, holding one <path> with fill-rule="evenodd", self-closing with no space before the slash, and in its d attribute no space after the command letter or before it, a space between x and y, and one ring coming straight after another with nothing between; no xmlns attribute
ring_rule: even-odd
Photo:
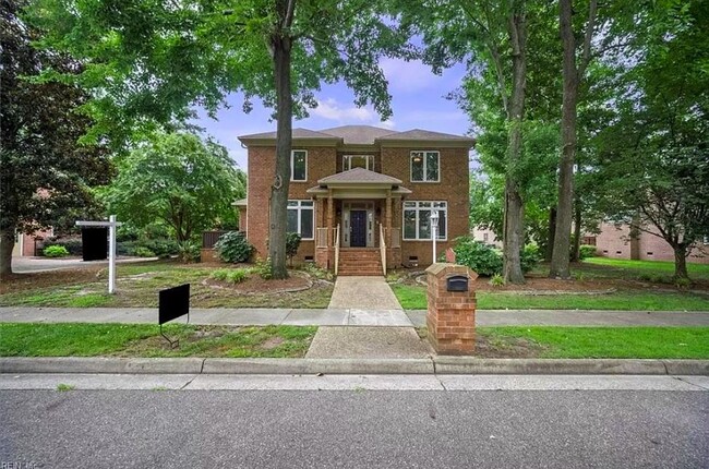
<svg viewBox="0 0 709 469"><path fill-rule="evenodd" d="M628 225L602 223L596 236L598 255L640 261L674 261L674 251L665 240L645 231L630 236ZM687 262L709 264L709 237L699 240L687 256Z"/></svg>

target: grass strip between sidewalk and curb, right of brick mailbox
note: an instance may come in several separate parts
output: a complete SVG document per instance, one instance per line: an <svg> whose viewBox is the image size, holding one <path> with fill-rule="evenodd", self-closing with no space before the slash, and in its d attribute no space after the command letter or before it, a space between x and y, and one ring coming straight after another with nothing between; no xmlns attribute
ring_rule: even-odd
<svg viewBox="0 0 709 469"><path fill-rule="evenodd" d="M709 327L480 327L502 352L524 344L541 358L709 359Z"/></svg>

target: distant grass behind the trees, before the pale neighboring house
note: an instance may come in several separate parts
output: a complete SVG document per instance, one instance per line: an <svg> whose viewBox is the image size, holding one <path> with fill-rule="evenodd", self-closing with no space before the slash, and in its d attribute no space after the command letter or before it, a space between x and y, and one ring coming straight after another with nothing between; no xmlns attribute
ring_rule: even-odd
<svg viewBox="0 0 709 469"><path fill-rule="evenodd" d="M588 267L606 267L601 270ZM610 257L588 257L578 264L578 270L594 276L637 278L640 275L661 275L668 278L674 275L674 263L666 261L629 261ZM689 278L709 279L709 264L687 263Z"/></svg>

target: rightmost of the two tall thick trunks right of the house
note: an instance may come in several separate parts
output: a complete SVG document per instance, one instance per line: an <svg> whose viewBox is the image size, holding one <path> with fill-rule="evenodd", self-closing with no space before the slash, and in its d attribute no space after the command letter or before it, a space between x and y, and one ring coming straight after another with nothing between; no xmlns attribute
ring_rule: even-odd
<svg viewBox="0 0 709 469"><path fill-rule="evenodd" d="M576 103L578 71L576 41L572 24L572 0L560 0L560 27L564 48L564 95L562 101L562 155L558 165L558 205L554 250L549 276L570 278L568 253L570 248L574 201L574 157L576 154Z"/></svg>

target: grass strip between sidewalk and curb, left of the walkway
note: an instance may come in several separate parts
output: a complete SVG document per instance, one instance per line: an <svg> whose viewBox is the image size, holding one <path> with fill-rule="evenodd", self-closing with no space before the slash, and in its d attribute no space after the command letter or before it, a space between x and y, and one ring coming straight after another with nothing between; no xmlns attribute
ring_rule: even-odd
<svg viewBox="0 0 709 469"><path fill-rule="evenodd" d="M316 327L164 327L147 324L0 324L1 357L266 357L305 356Z"/></svg>

